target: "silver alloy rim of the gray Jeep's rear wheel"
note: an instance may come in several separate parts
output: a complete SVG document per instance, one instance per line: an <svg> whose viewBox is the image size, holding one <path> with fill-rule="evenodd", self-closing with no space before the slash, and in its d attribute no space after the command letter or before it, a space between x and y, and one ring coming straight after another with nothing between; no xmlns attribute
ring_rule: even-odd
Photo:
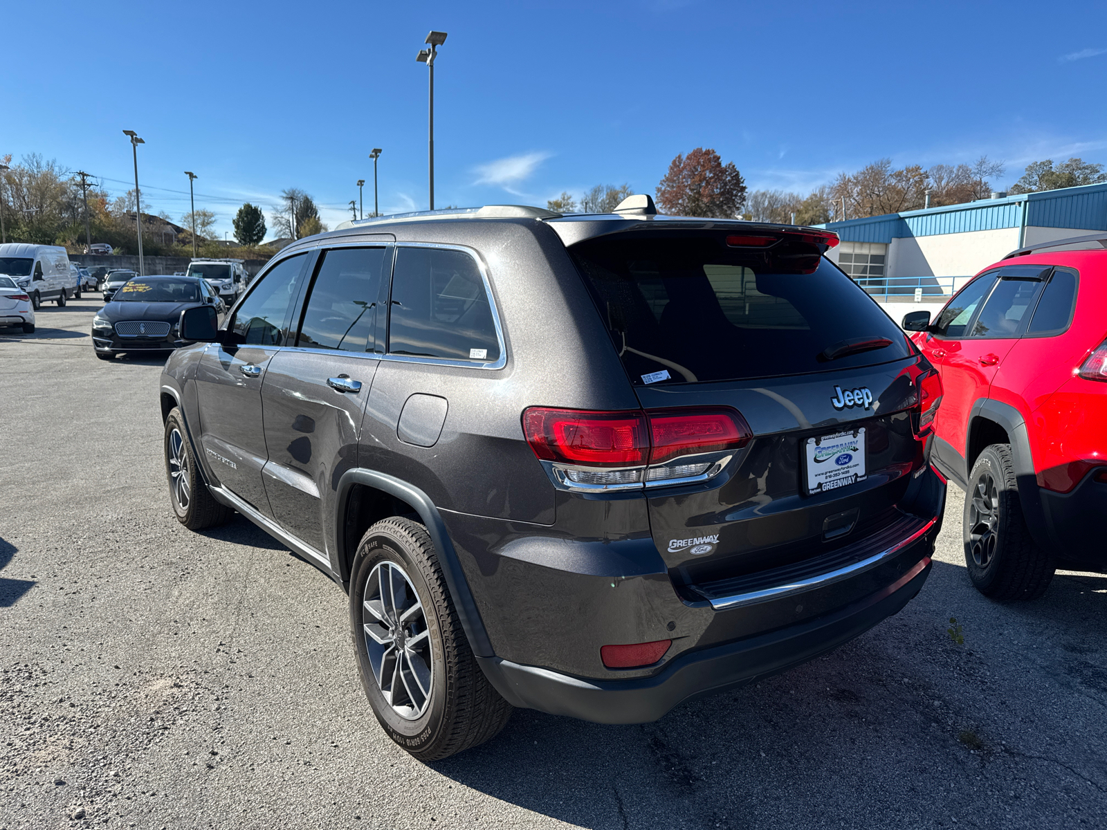
<svg viewBox="0 0 1107 830"><path fill-rule="evenodd" d="M385 702L415 720L431 702L434 661L423 604L403 569L379 562L365 581L362 629L373 677Z"/></svg>

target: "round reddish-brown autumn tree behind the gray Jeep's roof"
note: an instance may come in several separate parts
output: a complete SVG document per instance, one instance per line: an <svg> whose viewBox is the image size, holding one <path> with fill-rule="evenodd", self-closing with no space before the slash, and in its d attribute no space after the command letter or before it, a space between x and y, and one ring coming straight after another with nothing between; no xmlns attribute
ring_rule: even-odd
<svg viewBox="0 0 1107 830"><path fill-rule="evenodd" d="M670 163L656 195L658 206L666 214L725 219L741 212L746 183L734 162L724 165L714 149L696 147Z"/></svg>

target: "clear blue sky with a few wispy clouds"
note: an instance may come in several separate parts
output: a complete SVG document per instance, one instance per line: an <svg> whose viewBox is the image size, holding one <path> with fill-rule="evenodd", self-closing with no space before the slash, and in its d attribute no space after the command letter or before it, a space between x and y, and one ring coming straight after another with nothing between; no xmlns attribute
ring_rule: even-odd
<svg viewBox="0 0 1107 830"><path fill-rule="evenodd" d="M806 191L897 165L1107 163L1107 4L54 2L4 11L0 155L133 177L218 230L300 187L333 225L380 160L381 210L425 209L427 71L435 201L538 204L630 183L652 194L696 146L753 188ZM53 30L53 32L51 32ZM19 33L19 37L14 37ZM993 183L993 185L996 183ZM159 188L159 189L156 189ZM371 210L372 190L366 187Z"/></svg>

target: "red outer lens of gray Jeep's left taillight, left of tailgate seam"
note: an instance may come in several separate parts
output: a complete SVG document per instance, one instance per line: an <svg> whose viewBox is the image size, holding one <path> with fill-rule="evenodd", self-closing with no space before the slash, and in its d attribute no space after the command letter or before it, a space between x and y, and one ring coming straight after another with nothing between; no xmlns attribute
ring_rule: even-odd
<svg viewBox="0 0 1107 830"><path fill-rule="evenodd" d="M590 467L633 467L650 456L642 412L581 412L534 406L523 413L523 432L544 460Z"/></svg>

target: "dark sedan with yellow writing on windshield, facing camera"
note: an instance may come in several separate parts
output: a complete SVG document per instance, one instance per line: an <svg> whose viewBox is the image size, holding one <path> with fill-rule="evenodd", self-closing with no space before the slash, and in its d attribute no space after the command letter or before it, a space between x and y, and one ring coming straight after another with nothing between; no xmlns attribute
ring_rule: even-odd
<svg viewBox="0 0 1107 830"><path fill-rule="evenodd" d="M227 311L207 282L196 277L135 277L120 288L92 320L96 356L121 352L164 352L188 345L177 331L180 312L211 305L219 321Z"/></svg>

